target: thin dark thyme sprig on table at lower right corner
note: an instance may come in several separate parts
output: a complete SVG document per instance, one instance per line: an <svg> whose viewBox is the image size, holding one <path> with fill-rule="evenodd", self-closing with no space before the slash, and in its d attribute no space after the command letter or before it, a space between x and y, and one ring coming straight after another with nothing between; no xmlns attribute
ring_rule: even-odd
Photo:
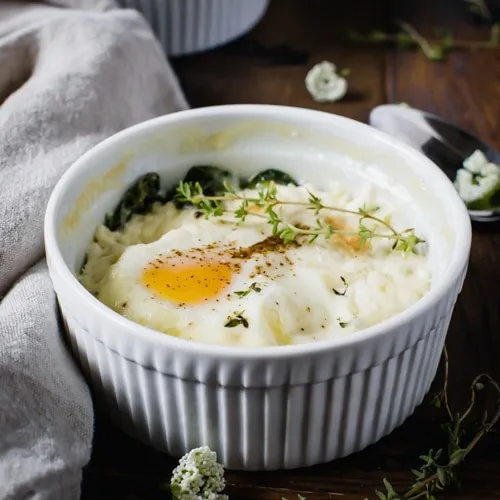
<svg viewBox="0 0 500 500"><path fill-rule="evenodd" d="M478 442L497 424L500 420L500 384L488 374L481 373L476 376L470 385L470 399L463 413L454 413L448 401L448 372L449 360L446 348L443 351L444 358L444 383L442 391L434 398L434 404L444 408L447 423L443 425L448 437L446 452L443 449L429 450L419 458L422 462L419 469L412 470L414 483L405 493L398 493L391 483L384 478L385 491L376 491L380 500L434 500L436 494L443 491L446 486L457 482L456 468L462 464L469 453L476 447ZM479 391L491 388L496 395L495 411L488 418L485 411L475 436L464 443L464 424L470 417L475 405Z"/></svg>

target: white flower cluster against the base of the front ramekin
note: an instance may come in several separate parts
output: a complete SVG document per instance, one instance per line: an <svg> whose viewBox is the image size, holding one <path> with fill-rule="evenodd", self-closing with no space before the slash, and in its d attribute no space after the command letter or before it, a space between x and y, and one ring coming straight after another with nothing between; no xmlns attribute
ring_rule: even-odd
<svg viewBox="0 0 500 500"><path fill-rule="evenodd" d="M170 491L175 500L227 500L224 468L208 446L195 448L179 460L172 472Z"/></svg>

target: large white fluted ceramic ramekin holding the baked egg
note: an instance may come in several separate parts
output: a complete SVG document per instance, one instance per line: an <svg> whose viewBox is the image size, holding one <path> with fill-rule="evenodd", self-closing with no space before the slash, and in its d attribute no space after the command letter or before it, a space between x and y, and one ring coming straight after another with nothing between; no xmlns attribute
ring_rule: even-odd
<svg viewBox="0 0 500 500"><path fill-rule="evenodd" d="M321 184L368 178L391 191L429 242L432 289L358 333L300 346L205 345L139 326L76 280L96 226L148 171L188 166L247 174L270 165ZM61 178L45 220L50 275L72 350L96 400L125 431L174 456L209 445L232 469L327 462L374 443L420 404L433 380L466 274L470 222L424 156L356 121L279 106L220 106L124 130Z"/></svg>

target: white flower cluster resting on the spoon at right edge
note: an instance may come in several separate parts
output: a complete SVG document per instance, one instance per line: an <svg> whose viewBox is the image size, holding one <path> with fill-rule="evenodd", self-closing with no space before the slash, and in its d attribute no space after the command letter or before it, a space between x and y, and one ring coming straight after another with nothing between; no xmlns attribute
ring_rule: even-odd
<svg viewBox="0 0 500 500"><path fill-rule="evenodd" d="M455 187L469 208L488 208L491 197L500 190L500 167L490 163L482 151L475 151L457 171ZM484 205L484 206L483 206Z"/></svg>

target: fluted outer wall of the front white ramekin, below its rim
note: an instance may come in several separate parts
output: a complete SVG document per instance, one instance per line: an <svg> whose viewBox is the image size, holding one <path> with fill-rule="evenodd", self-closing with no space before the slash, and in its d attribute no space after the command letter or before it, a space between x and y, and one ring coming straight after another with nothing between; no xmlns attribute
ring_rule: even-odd
<svg viewBox="0 0 500 500"><path fill-rule="evenodd" d="M208 445L228 468L275 470L348 455L401 425L436 374L461 278L425 318L398 333L418 339L403 351L393 336L381 348L387 354L382 362L357 371L353 356L350 373L340 377L332 362L332 375L324 379L318 379L317 360L299 357L276 371L275 384L273 362L256 361L258 370L267 371L269 384L254 387L257 369L249 372L248 364L238 372L233 365L201 366L205 361L165 353L143 366L103 341L119 332L103 331L106 325L97 318L64 301L61 306L70 344L96 400L126 432L174 456ZM172 363L173 372L162 370ZM305 382L293 381L294 370L304 374ZM192 378L193 373L202 376Z"/></svg>

